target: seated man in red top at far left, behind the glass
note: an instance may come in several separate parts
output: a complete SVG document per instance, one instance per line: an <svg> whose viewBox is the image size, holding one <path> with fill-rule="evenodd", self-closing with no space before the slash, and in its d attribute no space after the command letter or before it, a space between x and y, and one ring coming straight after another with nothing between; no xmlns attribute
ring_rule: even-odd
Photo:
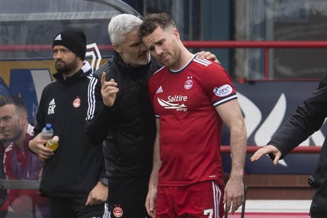
<svg viewBox="0 0 327 218"><path fill-rule="evenodd" d="M12 143L4 154L5 176L8 180L39 180L42 164L38 157L28 149L34 127L28 124L27 109L24 101L12 96L11 101L0 99L0 132ZM37 206L37 214L49 211L48 200L41 197L37 190L8 189L8 199L0 210L13 211L23 215L32 213L32 205ZM34 214L34 215L37 215Z"/></svg>

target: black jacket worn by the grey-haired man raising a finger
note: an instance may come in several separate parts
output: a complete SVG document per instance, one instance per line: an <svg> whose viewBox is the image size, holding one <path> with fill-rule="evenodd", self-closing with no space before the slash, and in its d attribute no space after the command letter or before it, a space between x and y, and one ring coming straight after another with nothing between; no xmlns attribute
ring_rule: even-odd
<svg viewBox="0 0 327 218"><path fill-rule="evenodd" d="M150 63L131 67L118 53L101 66L96 75L106 72L106 80L114 79L119 92L112 107L103 105L85 128L94 144L103 143L108 178L150 175L155 116L148 95L148 80L161 65Z"/></svg>

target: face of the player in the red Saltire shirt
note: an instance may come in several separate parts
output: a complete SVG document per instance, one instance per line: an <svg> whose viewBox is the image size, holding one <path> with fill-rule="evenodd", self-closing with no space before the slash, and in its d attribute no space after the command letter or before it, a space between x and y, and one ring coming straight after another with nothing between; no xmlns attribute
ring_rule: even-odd
<svg viewBox="0 0 327 218"><path fill-rule="evenodd" d="M151 55L168 67L174 67L180 58L178 40L179 33L172 27L165 30L157 27L153 33L143 37L143 42Z"/></svg>

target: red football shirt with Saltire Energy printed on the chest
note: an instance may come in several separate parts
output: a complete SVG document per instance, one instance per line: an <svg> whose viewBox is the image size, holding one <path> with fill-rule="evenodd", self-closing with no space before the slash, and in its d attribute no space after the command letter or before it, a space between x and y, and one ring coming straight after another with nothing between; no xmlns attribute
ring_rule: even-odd
<svg viewBox="0 0 327 218"><path fill-rule="evenodd" d="M237 99L225 69L194 56L180 70L162 67L155 72L149 94L160 125L158 185L205 180L223 185L222 120L215 107Z"/></svg>

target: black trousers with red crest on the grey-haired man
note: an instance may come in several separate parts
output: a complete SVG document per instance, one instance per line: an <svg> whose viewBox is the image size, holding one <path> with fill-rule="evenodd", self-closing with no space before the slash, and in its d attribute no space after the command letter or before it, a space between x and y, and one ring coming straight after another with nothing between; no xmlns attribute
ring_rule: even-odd
<svg viewBox="0 0 327 218"><path fill-rule="evenodd" d="M109 179L110 217L150 217L145 208L149 176Z"/></svg>

